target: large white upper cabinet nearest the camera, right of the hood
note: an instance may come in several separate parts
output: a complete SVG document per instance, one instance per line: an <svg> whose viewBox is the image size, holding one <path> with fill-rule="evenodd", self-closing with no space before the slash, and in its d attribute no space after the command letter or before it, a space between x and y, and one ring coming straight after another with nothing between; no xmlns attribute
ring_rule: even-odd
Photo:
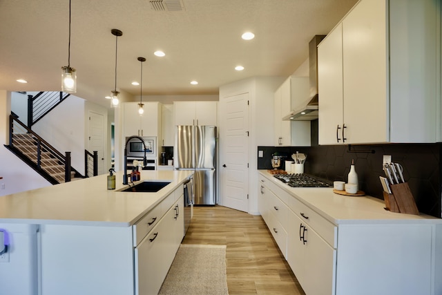
<svg viewBox="0 0 442 295"><path fill-rule="evenodd" d="M362 0L320 43L319 144L439 139L436 8Z"/></svg>

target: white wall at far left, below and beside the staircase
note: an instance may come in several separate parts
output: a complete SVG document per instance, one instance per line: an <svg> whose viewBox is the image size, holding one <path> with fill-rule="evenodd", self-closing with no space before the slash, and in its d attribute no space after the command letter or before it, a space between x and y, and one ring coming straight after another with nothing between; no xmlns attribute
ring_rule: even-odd
<svg viewBox="0 0 442 295"><path fill-rule="evenodd" d="M51 185L4 146L9 144L10 110L10 92L0 91L0 196Z"/></svg>

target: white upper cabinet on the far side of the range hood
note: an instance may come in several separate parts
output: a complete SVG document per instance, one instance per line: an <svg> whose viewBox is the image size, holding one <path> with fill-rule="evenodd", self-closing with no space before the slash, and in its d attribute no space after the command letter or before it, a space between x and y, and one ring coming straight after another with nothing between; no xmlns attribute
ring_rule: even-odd
<svg viewBox="0 0 442 295"><path fill-rule="evenodd" d="M310 146L310 121L287 121L291 107L309 97L309 78L291 76L275 91L273 100L275 146Z"/></svg>

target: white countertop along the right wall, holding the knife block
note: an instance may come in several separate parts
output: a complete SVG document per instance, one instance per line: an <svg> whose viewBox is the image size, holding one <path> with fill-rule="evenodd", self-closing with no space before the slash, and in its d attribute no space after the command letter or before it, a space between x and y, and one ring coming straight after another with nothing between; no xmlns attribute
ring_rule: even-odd
<svg viewBox="0 0 442 295"><path fill-rule="evenodd" d="M290 187L267 170L260 170L259 173L336 225L366 223L367 220L370 223L442 223L441 218L423 213L412 215L387 211L384 209L385 202L372 196L343 196L334 193L332 187Z"/></svg>

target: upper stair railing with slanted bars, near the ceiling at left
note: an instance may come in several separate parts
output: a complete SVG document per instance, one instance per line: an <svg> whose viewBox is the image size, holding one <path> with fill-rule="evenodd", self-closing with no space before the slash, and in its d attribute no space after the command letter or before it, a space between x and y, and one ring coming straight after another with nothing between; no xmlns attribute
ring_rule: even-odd
<svg viewBox="0 0 442 295"><path fill-rule="evenodd" d="M35 123L69 96L69 93L61 91L45 91L39 92L35 96L28 95L28 127L32 128Z"/></svg>

